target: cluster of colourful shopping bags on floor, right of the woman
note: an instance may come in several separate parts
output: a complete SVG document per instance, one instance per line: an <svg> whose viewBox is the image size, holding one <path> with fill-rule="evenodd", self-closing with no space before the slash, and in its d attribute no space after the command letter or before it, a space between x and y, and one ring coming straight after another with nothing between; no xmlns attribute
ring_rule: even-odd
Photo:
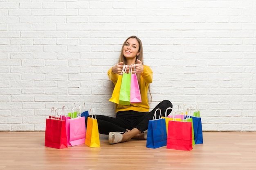
<svg viewBox="0 0 256 170"><path fill-rule="evenodd" d="M195 110L193 116L191 116L192 109ZM169 115L168 110L172 111ZM193 145L202 144L202 122L199 114L200 112L194 107L189 107L186 111L175 111L170 107L161 118L160 110L159 119L154 116L153 120L149 120L146 147L166 146L167 149L192 150Z"/></svg>

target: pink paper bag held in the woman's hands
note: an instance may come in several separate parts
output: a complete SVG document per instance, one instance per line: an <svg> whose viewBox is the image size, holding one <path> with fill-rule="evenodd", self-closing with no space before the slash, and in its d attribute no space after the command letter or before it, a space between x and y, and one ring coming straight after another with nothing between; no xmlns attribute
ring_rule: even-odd
<svg viewBox="0 0 256 170"><path fill-rule="evenodd" d="M135 72L135 64L134 64L134 72ZM135 74L131 74L130 103L138 103L138 102L141 102L141 96L139 91L139 83L138 83L137 75L135 73Z"/></svg>

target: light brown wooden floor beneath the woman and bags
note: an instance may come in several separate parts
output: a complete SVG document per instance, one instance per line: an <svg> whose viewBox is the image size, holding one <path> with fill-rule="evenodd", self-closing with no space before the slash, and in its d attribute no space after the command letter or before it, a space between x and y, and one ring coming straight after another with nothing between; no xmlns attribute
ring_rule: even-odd
<svg viewBox="0 0 256 170"><path fill-rule="evenodd" d="M256 170L256 132L204 132L191 151L146 148L146 140L44 146L45 132L0 132L0 170Z"/></svg>

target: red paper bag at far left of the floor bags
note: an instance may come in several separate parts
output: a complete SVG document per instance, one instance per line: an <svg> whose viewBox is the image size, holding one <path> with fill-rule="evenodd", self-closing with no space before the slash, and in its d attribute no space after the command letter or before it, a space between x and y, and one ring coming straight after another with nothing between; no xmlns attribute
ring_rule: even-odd
<svg viewBox="0 0 256 170"><path fill-rule="evenodd" d="M66 122L58 118L59 116L56 116L56 114L52 116L52 112L58 114L61 111L58 109L52 110L51 116L46 119L45 146L57 149L67 148Z"/></svg>

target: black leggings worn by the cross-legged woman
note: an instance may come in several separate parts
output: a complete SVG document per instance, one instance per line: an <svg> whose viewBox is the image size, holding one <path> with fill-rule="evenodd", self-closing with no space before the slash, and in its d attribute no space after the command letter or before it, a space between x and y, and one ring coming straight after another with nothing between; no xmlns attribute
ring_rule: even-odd
<svg viewBox="0 0 256 170"><path fill-rule="evenodd" d="M168 107L173 107L169 100L163 100L150 112L139 111L119 111L115 118L110 116L96 115L98 122L99 133L108 134L110 132L126 132L126 129L132 130L133 128L139 129L144 132L148 129L148 121L153 119L156 109L161 109L162 116ZM171 113L168 110L168 114ZM159 118L160 111L157 111L156 118ZM87 118L85 120L87 124Z"/></svg>

